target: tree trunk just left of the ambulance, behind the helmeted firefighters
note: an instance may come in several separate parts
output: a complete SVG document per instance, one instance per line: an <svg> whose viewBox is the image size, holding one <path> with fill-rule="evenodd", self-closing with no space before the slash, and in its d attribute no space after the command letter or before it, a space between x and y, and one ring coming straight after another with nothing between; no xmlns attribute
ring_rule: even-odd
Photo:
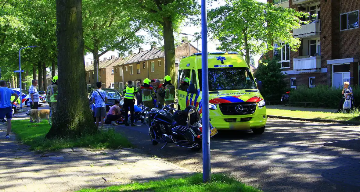
<svg viewBox="0 0 360 192"><path fill-rule="evenodd" d="M175 80L175 42L174 30L172 28L172 21L170 18L164 17L164 51L165 51L165 75L171 77L171 82L176 83Z"/></svg>

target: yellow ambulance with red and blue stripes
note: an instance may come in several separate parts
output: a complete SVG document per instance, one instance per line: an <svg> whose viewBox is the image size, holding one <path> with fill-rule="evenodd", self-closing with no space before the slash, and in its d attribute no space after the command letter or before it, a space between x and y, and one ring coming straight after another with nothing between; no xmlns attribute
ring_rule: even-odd
<svg viewBox="0 0 360 192"><path fill-rule="evenodd" d="M177 74L178 109L196 106L202 113L201 54L181 59ZM210 123L216 129L265 130L266 107L256 80L237 52L208 53Z"/></svg>

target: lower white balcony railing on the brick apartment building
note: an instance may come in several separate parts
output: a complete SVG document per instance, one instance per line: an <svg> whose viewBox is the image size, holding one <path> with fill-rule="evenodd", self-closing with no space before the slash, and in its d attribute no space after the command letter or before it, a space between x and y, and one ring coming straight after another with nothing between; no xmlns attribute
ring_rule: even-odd
<svg viewBox="0 0 360 192"><path fill-rule="evenodd" d="M313 73L321 70L321 56L294 58L294 71L297 73Z"/></svg>

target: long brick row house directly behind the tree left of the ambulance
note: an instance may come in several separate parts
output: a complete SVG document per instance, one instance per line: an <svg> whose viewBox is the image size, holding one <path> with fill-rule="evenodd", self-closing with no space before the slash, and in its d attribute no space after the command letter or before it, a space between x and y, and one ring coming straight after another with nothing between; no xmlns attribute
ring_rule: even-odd
<svg viewBox="0 0 360 192"><path fill-rule="evenodd" d="M180 59L196 52L198 52L197 48L186 41L175 47L176 74ZM129 80L133 82L133 85L138 82L142 84L145 78L163 81L166 75L165 64L163 47L152 45L150 50L139 49L136 53L129 52L129 56L120 63L113 65L114 88L121 91Z"/></svg>

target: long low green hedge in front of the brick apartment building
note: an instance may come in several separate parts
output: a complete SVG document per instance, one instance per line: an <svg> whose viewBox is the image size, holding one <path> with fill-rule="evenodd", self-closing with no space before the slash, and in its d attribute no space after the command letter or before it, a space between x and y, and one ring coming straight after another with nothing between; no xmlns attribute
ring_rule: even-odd
<svg viewBox="0 0 360 192"><path fill-rule="evenodd" d="M356 103L360 101L360 88L358 86L352 87L354 100ZM317 102L324 103L324 107L337 109L339 101L343 97L341 94L342 88L332 88L330 86L318 85L314 88L307 86L298 86L296 90L290 93L290 102ZM293 103L293 105L301 105ZM313 106L322 106L316 105ZM358 107L355 104L355 107Z"/></svg>

